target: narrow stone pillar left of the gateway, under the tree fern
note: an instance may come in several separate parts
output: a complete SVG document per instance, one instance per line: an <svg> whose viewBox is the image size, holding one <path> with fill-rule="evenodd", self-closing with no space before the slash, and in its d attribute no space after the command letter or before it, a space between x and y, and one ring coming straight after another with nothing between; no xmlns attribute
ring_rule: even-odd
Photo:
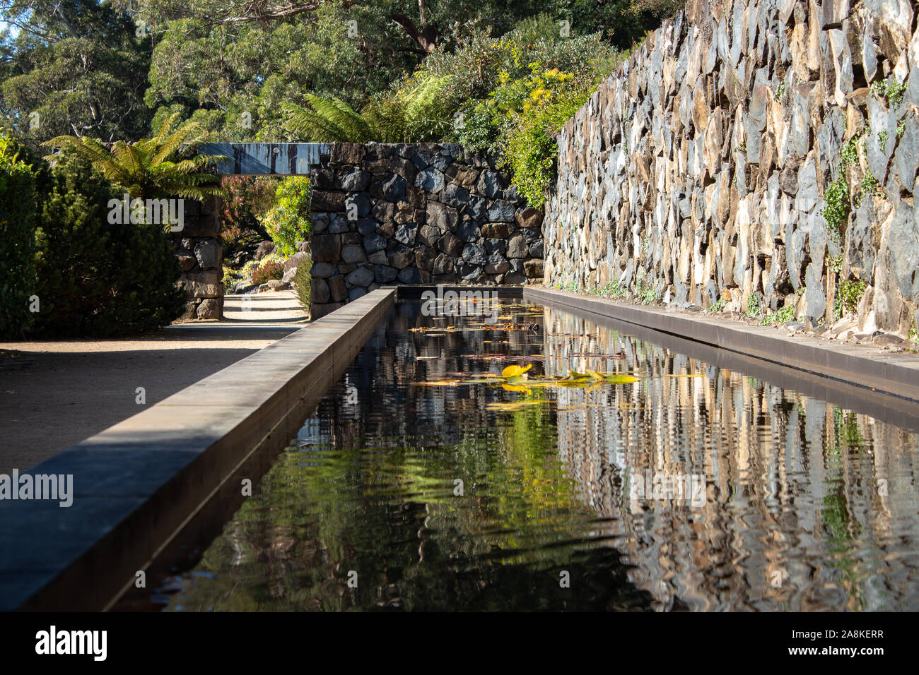
<svg viewBox="0 0 919 675"><path fill-rule="evenodd" d="M185 200L185 222L173 232L173 248L182 266L181 283L188 291L179 321L223 317L223 251L219 239L221 202Z"/></svg>

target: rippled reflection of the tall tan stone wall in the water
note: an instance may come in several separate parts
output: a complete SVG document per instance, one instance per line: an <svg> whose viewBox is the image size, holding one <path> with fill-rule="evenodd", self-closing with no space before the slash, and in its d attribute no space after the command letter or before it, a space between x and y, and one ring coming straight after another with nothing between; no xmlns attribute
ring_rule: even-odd
<svg viewBox="0 0 919 675"><path fill-rule="evenodd" d="M889 565L885 547L915 536L903 524L919 509L914 433L738 373L716 377L567 314L547 310L546 321L547 372L641 376L559 389L558 446L585 501L611 519L614 546L636 566L630 579L662 608L678 594L693 610L894 609L881 579L910 571L902 559ZM570 356L591 351L624 356ZM680 373L704 377L664 377ZM649 469L703 474L707 503L631 500L626 478Z"/></svg>

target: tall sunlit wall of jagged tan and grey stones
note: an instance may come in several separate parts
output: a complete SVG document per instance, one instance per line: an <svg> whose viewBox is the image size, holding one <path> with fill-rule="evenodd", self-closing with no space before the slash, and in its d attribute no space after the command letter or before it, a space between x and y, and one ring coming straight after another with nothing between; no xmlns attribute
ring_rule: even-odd
<svg viewBox="0 0 919 675"><path fill-rule="evenodd" d="M829 324L837 289L861 281L859 330L905 337L919 300L914 12L690 0L562 130L546 285L793 306Z"/></svg>

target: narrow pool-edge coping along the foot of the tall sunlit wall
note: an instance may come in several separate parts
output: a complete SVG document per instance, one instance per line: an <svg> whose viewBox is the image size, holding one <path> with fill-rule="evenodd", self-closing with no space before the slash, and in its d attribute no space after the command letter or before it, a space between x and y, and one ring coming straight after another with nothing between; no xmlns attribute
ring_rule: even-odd
<svg viewBox="0 0 919 675"><path fill-rule="evenodd" d="M868 395L902 399L913 411L919 403L919 357L915 354L868 354L865 345L840 344L808 336L783 335L775 328L751 326L743 321L715 319L674 310L635 307L613 300L590 298L550 288L526 287L524 299L557 307L590 312L637 327L751 356L801 375L831 378ZM790 383L789 388L794 384ZM903 406L893 403L897 408Z"/></svg>

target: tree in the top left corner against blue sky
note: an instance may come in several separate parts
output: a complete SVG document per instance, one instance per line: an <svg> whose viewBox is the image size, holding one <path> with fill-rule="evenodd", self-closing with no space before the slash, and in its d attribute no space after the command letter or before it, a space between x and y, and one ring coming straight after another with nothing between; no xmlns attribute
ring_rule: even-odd
<svg viewBox="0 0 919 675"><path fill-rule="evenodd" d="M146 131L150 39L94 0L0 2L0 113L37 145L71 133L108 141Z"/></svg>

